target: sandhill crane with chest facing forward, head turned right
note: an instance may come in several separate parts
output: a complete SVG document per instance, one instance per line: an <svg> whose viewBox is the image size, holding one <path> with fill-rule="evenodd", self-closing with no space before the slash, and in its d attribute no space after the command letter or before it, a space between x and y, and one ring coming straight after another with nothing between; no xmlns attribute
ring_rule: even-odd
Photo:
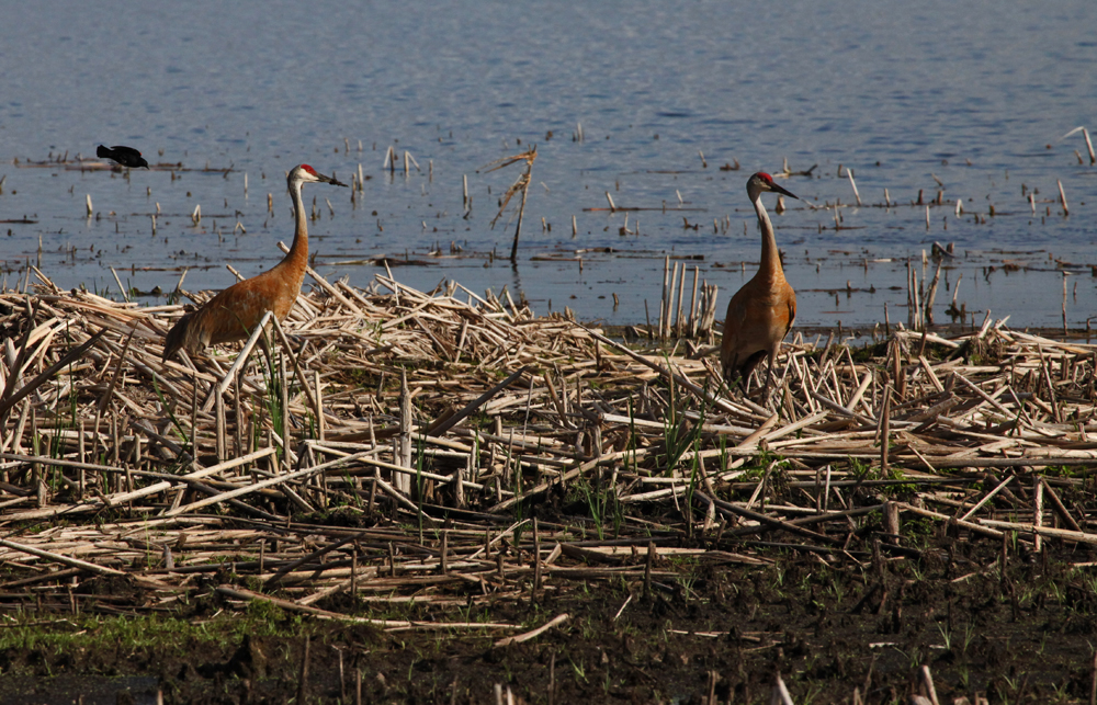
<svg viewBox="0 0 1097 705"><path fill-rule="evenodd" d="M728 385L738 380L744 390L747 389L750 373L767 355L769 371L764 388L769 388L777 351L796 318L796 293L784 280L773 224L761 203L761 194L767 191L799 197L773 183L773 178L761 171L747 181L747 195L754 203L758 227L761 228L761 264L754 278L744 284L727 304L724 340L720 350L724 379Z"/></svg>

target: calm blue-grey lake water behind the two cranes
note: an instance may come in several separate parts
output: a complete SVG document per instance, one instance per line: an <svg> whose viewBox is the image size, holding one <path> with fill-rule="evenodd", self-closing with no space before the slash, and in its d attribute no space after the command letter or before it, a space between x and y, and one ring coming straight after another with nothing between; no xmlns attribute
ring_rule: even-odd
<svg viewBox="0 0 1097 705"><path fill-rule="evenodd" d="M957 257L938 322L959 281L957 303L980 320L1059 326L1066 271L1070 323L1085 326L1097 168L1082 134L1064 135L1097 133L1095 27L1093 0L10 3L0 219L33 223L0 226L0 263L9 286L30 260L64 287L115 295L111 266L143 291L171 289L184 266L185 288L223 288L225 264L252 275L289 243L289 169L349 183L361 164L353 204L349 190L305 189L327 276L366 285L384 268L363 262L388 254L418 262L393 268L412 286L507 286L538 312L635 323L645 302L658 309L664 257L702 255L689 264L720 286L722 317L758 258L746 180L788 160L811 169L781 180L803 201L774 216L798 325L871 325L885 304L905 321L907 260L931 275L923 252L939 241ZM124 179L27 164L99 144L182 168ZM513 203L490 221L520 166L486 168L532 144L512 269ZM389 146L419 168L389 174ZM927 227L912 204L939 191ZM607 211L607 192L645 209Z"/></svg>

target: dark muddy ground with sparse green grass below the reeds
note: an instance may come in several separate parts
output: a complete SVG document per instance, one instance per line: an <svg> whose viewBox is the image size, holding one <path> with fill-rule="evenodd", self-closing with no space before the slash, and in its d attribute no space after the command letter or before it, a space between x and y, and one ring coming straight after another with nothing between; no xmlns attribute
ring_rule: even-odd
<svg viewBox="0 0 1097 705"><path fill-rule="evenodd" d="M1093 550L1052 544L1033 555L1024 542L924 530L920 543L875 558L725 539L773 564L660 559L655 568L675 577L653 580L646 596L643 581L563 595L550 581L535 601L527 587L460 610L529 628L570 615L502 648L498 634L386 633L258 603L230 614L213 592L157 616L112 617L112 599L140 595L89 581L103 600L80 616L46 603L4 617L0 702L155 702L150 681L118 680L139 675L168 703L354 703L357 687L363 703L494 703L497 685L504 702L509 689L527 703L765 703L780 673L798 704L850 703L855 689L867 703L905 703L923 666L942 703L1088 702L1097 575L1077 564ZM336 600L316 606L454 616L453 606L378 615Z"/></svg>

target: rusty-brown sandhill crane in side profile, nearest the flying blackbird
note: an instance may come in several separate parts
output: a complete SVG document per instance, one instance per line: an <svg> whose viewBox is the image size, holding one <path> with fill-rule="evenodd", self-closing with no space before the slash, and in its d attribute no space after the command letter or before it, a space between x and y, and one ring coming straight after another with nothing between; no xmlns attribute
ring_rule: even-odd
<svg viewBox="0 0 1097 705"><path fill-rule="evenodd" d="M195 353L207 345L242 340L251 334L267 311L273 311L281 321L293 308L308 265L308 221L301 201L301 186L315 182L337 186L347 184L316 173L308 164L294 167L285 181L293 197L296 218L290 252L273 269L237 282L202 308L180 318L163 339L165 362L180 348Z"/></svg>

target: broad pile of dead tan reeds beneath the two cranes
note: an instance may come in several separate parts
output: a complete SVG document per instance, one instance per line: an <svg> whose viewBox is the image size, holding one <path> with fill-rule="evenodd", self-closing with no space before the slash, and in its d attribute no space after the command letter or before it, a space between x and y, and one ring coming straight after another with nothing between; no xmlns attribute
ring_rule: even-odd
<svg viewBox="0 0 1097 705"><path fill-rule="evenodd" d="M798 337L773 394L746 398L711 359L509 296L312 273L244 353L165 364L183 306L35 275L0 295L0 610L162 609L208 592L203 575L228 604L340 618L315 605L649 591L674 555L917 555L904 515L1097 543L1077 491L1097 466L1094 345L991 320L862 350ZM144 596L82 591L95 577Z"/></svg>

